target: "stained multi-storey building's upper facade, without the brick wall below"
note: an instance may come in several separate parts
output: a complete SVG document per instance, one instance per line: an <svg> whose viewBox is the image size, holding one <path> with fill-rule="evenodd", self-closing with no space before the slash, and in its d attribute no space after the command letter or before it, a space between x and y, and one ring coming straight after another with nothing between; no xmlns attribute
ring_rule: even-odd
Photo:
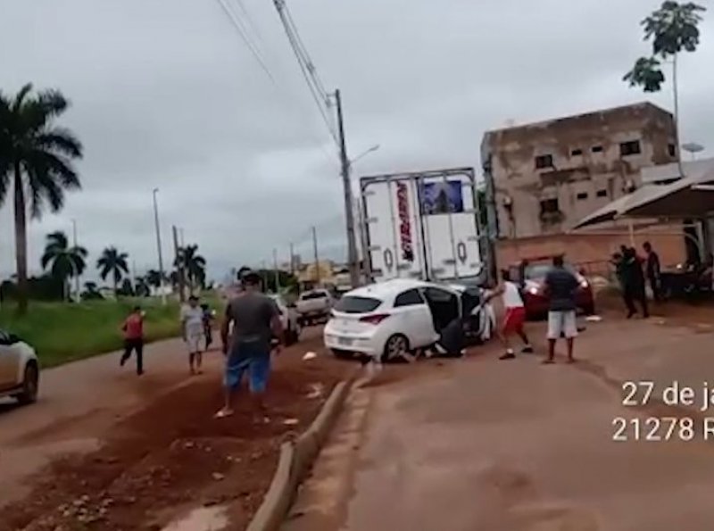
<svg viewBox="0 0 714 531"><path fill-rule="evenodd" d="M676 155L672 115L649 103L488 131L498 236L567 232Z"/></svg>

